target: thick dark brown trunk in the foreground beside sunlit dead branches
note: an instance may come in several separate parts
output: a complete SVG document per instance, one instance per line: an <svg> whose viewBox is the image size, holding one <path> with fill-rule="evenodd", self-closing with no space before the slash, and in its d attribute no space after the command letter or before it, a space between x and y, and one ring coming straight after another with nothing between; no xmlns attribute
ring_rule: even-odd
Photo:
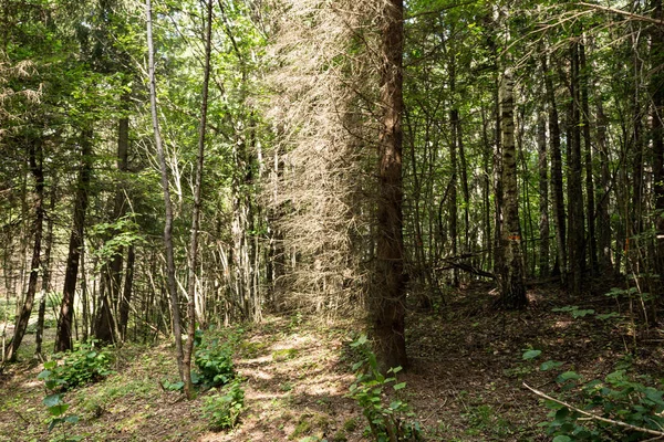
<svg viewBox="0 0 664 442"><path fill-rule="evenodd" d="M381 367L407 366L405 339L402 114L403 0L385 2L382 29L376 269L371 288L371 313Z"/></svg>

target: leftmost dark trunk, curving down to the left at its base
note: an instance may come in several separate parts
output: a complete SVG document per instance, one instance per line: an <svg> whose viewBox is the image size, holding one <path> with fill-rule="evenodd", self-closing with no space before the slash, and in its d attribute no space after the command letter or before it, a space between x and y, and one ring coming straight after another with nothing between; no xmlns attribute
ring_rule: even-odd
<svg viewBox="0 0 664 442"><path fill-rule="evenodd" d="M32 260L30 262L30 278L28 281L28 292L23 299L21 313L17 317L17 324L11 343L7 348L7 359L14 361L17 352L25 336L32 306L34 304L34 294L37 293L37 283L41 267L41 242L44 225L44 170L43 151L41 140L30 140L30 171L34 177L34 222L32 224L34 243L32 246Z"/></svg>

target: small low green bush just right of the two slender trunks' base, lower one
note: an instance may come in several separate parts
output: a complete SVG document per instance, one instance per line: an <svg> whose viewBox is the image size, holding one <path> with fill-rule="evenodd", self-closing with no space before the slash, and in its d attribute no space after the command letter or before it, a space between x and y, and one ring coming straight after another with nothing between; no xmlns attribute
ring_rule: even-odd
<svg viewBox="0 0 664 442"><path fill-rule="evenodd" d="M240 379L222 387L219 393L203 398L203 414L210 427L218 430L232 429L237 425L245 408L245 390Z"/></svg>

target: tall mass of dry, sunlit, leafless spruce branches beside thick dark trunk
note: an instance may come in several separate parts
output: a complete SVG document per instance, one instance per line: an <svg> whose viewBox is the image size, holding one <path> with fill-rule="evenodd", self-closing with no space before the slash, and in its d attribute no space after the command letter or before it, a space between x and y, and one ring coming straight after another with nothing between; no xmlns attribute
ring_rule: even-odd
<svg viewBox="0 0 664 442"><path fill-rule="evenodd" d="M375 103L383 0L280 0L269 52L278 67L268 114L280 136L263 199L279 213L282 301L289 307L361 305L371 250L377 141ZM282 13L288 11L288 13Z"/></svg>

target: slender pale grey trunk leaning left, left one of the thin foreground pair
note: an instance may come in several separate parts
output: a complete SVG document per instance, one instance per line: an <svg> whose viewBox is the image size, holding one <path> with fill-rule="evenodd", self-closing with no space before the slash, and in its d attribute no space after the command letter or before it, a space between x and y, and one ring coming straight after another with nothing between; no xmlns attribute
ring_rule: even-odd
<svg viewBox="0 0 664 442"><path fill-rule="evenodd" d="M145 0L145 11L147 15L147 52L148 52L148 71L149 71L149 104L152 114L153 131L155 136L155 145L157 147L157 159L159 161L159 171L162 175L162 189L164 190L164 248L166 252L166 287L170 301L170 314L173 317L173 335L175 338L176 360L180 379L184 378L183 366L183 333L180 311L177 295L177 284L175 282L175 257L173 253L173 203L170 201L170 189L168 187L168 168L166 167L166 156L159 133L159 119L157 117L157 84L155 77L155 50L153 44L153 25L152 25L152 4L151 0Z"/></svg>

